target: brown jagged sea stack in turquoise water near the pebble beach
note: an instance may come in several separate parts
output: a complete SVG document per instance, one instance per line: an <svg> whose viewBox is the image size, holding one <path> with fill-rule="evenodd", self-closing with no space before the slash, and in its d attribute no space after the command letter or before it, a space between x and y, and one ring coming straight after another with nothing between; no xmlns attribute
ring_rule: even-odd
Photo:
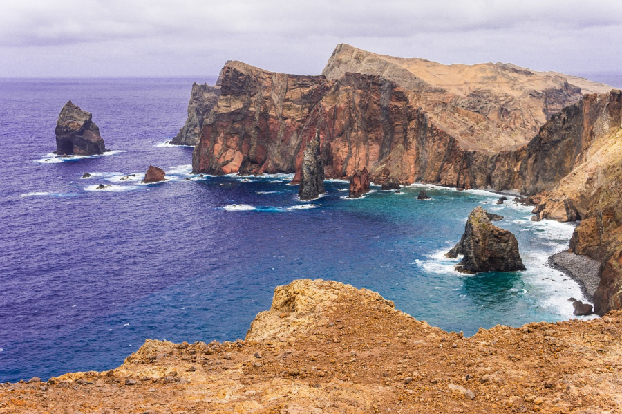
<svg viewBox="0 0 622 414"><path fill-rule="evenodd" d="M492 225L487 211L480 206L471 211L460 242L445 256L455 258L458 254L464 255L455 265L455 270L461 273L525 270L516 237Z"/></svg>

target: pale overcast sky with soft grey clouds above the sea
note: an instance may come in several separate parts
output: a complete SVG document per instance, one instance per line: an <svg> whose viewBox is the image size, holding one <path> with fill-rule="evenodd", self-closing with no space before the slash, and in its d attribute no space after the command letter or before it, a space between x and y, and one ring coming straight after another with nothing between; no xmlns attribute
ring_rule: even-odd
<svg viewBox="0 0 622 414"><path fill-rule="evenodd" d="M621 71L621 39L622 0L0 0L0 77L319 74L339 43L572 74Z"/></svg>

